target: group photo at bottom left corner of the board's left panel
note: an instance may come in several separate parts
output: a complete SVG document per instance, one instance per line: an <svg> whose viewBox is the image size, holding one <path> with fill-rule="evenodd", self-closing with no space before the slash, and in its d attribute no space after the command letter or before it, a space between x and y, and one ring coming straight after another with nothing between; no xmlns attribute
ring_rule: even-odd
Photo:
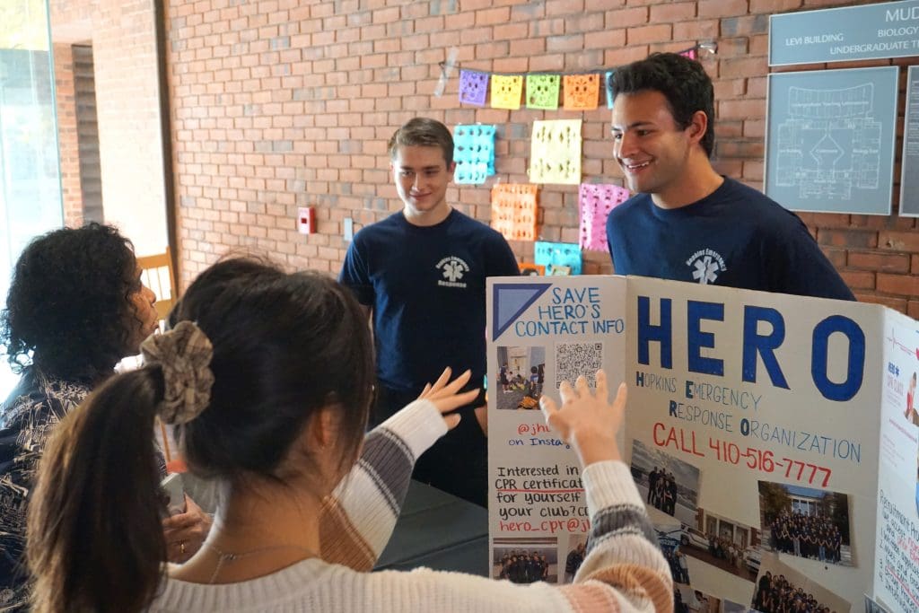
<svg viewBox="0 0 919 613"><path fill-rule="evenodd" d="M513 584L559 582L559 541L545 539L494 539L492 577Z"/></svg>

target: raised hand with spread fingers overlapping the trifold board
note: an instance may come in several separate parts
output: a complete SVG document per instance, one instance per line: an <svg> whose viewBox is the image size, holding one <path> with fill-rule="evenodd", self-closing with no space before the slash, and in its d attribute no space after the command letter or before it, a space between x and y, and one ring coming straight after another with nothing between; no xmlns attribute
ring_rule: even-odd
<svg viewBox="0 0 919 613"><path fill-rule="evenodd" d="M619 384L616 400L609 403L607 375L596 371L596 392L591 392L583 376L562 381L559 387L561 408L546 395L539 401L546 423L575 450L584 466L603 460L621 460L616 435L625 417L626 384Z"/></svg>

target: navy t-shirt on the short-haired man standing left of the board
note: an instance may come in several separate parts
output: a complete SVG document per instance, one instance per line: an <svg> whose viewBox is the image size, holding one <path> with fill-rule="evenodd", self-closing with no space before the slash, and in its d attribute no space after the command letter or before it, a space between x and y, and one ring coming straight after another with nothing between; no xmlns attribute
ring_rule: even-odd
<svg viewBox="0 0 919 613"><path fill-rule="evenodd" d="M338 280L373 308L380 382L420 392L447 366L482 385L485 278L519 274L504 236L459 210L434 226L400 211L357 233Z"/></svg>

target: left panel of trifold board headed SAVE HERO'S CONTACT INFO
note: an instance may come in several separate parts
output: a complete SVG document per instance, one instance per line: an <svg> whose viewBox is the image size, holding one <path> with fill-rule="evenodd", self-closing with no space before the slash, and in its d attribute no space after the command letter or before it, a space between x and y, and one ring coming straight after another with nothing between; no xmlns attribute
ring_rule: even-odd
<svg viewBox="0 0 919 613"><path fill-rule="evenodd" d="M625 278L488 279L488 461L492 576L516 583L515 560L545 556L552 583L571 582L569 555L589 528L573 451L539 411L542 393L571 378L572 365L621 379ZM496 341L494 339L497 339ZM494 342L493 342L494 341Z"/></svg>

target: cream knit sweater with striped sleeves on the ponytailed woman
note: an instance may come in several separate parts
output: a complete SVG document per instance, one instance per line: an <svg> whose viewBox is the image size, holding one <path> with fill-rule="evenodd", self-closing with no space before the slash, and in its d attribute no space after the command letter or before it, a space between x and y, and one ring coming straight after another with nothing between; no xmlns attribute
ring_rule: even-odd
<svg viewBox="0 0 919 613"><path fill-rule="evenodd" d="M433 405L414 403L408 411L397 414L393 420L380 428L386 430L388 435L394 435L393 440L402 441L403 445L396 445L394 448L402 448L403 453L408 451L414 460L414 457L426 448L424 439L431 438L431 434L438 430L437 426L442 424L443 420ZM425 434L419 434L421 432ZM441 426L440 434L442 433ZM427 441L426 445L431 443L433 439ZM366 471L368 466L379 469L381 465L389 465L394 468L401 463L390 458L392 461L387 464L380 461L382 455L378 454L376 463L364 461L363 468L359 462L356 471ZM404 470L404 467L400 470ZM408 467L408 472L411 472L411 466ZM349 506L355 508L347 504L348 500L352 503L358 499L362 501L362 511L357 515L367 517L369 524L361 525L360 517L348 515L348 518L358 533L369 536L364 542L372 541L371 549L379 556L382 546L385 545L380 535L391 533L395 517L388 519L387 517L391 516L388 511L374 512L375 507L388 509L391 499L386 500L387 495L374 495L367 490L369 481L372 480L357 474L357 478L349 480L352 483L350 487L359 488L362 493L338 494L341 500L345 501L343 507L346 509ZM364 564L349 564L349 567L320 559L309 559L277 573L236 584L198 585L168 579L149 611L672 611L673 584L670 572L657 548L652 526L645 515L641 495L635 488L629 467L622 462L599 462L584 469L583 481L593 528L587 556L573 585L515 585L470 574L429 569L416 569L408 573L366 573L354 568L363 568ZM399 498L399 505L401 503L402 498ZM325 551L326 547L323 544L323 557L328 559Z"/></svg>

